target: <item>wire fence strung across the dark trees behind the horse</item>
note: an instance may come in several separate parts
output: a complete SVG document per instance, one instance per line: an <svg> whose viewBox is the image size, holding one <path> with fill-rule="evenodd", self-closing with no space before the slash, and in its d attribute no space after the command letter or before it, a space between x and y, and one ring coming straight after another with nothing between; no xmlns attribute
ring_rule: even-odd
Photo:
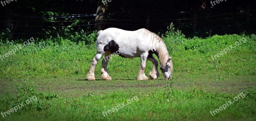
<svg viewBox="0 0 256 121"><path fill-rule="evenodd" d="M243 6L253 5L254 3L250 4L243 4ZM236 6L235 6L236 7ZM171 23L178 26L190 26L190 28L194 28L196 30L206 30L206 29L216 29L216 28L223 28L223 27L231 27L231 26L244 26L252 24L250 21L251 19L255 20L256 9L248 9L246 11L236 11L236 12L224 12L222 14L214 14L212 11L221 11L221 10L229 10L233 7L227 8L218 8L218 9L209 9L209 10L201 10L201 11L180 11L180 12L173 12L170 13L140 13L140 14L133 14L139 15L140 18L137 19L114 19L114 18L122 18L122 16L131 16L129 14L73 14L73 15L48 15L48 16L21 16L21 15L10 15L10 16L1 16L0 18L12 18L12 20L4 20L0 21L0 26L2 28L9 27L12 28L12 34L46 34L43 33L41 30L43 29L54 29L55 31L52 34L63 34L65 32L61 32L62 28L72 28L74 27L90 27L93 28L95 25L105 24L107 27L118 27L122 26L135 26L134 28L147 28L153 32L159 32L161 29L166 28ZM150 16L165 16L166 19L150 19ZM168 19L168 16L178 16L174 19ZM191 17L192 15L192 17ZM103 23L95 23L95 16L107 16L108 18L112 19L98 19L103 21ZM132 17L131 17L132 18ZM142 18L142 19L141 19ZM31 20L36 19L36 20ZM232 22L237 21L239 22ZM209 22L219 22L226 23L225 25L219 25L218 27L212 27L207 24ZM223 22L225 21L225 22ZM229 22L227 22L229 21ZM78 22L78 24L74 24ZM208 28L204 27L197 27L197 26L207 26ZM22 27L22 28L20 28ZM17 31L19 29L31 29L37 28L38 32L22 32ZM59 31L57 31L59 28ZM156 30L156 28L159 28ZM13 30L14 29L14 30ZM33 29L34 30L34 29ZM186 31L186 30L183 30ZM93 29L87 30L87 32L93 32Z"/></svg>

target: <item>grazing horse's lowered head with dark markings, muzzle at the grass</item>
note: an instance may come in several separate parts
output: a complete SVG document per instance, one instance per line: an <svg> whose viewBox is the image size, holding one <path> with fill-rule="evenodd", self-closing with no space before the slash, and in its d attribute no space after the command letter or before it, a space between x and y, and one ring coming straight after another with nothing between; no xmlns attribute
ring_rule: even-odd
<svg viewBox="0 0 256 121"><path fill-rule="evenodd" d="M165 67L163 67L163 64L160 65L160 70L164 75L164 79L168 80L172 78L172 70L173 70L172 57L168 58Z"/></svg>

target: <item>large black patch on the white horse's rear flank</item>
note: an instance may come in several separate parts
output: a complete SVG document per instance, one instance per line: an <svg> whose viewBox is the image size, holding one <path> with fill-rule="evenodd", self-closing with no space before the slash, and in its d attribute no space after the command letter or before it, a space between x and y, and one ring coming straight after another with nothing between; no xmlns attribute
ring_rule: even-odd
<svg viewBox="0 0 256 121"><path fill-rule="evenodd" d="M104 46L104 49L103 49L105 52L106 51L110 51L110 53L116 53L117 55L121 56L121 57L124 57L124 55L121 55L120 51L119 51L119 45L114 41L114 40L111 40L110 42L108 42L107 45ZM119 51L119 52L118 52ZM118 53L119 54L118 54ZM125 57L124 57L125 58Z"/></svg>

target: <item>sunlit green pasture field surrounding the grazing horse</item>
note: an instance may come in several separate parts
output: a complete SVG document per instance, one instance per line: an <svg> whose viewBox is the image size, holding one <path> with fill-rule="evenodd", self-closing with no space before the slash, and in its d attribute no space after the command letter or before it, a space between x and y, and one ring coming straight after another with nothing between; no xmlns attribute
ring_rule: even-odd
<svg viewBox="0 0 256 121"><path fill-rule="evenodd" d="M83 41L34 37L36 43L0 60L0 113L27 104L0 120L256 120L254 34L186 38L171 25L161 36L172 56L172 80L161 71L157 80L135 80L140 58L114 56L111 81L100 78L102 58L96 81L87 81L96 33ZM212 59L243 37L246 42ZM0 55L20 43L1 40ZM146 75L151 69L147 61Z"/></svg>

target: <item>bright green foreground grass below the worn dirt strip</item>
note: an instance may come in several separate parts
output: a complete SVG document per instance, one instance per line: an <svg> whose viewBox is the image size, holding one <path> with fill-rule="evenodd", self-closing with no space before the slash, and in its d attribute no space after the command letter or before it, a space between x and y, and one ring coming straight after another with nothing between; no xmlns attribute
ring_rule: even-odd
<svg viewBox="0 0 256 121"><path fill-rule="evenodd" d="M90 90L90 93L76 92L79 95L68 96L69 93L65 92L68 89L63 89L63 95L59 96L52 93L56 89L56 85L51 85L43 92L36 91L36 87L31 86L33 81L22 82L22 85L17 87L16 97L6 95L1 100L1 110L10 110L10 108L16 106L17 103L25 102L26 99L32 96L37 97L37 101L30 105L23 107L7 117L1 117L1 120L254 120L255 119L255 99L256 93L254 89L247 88L240 90L234 94L227 93L214 93L205 92L196 87L190 89L177 89L177 87L170 87L167 82L149 81L135 82L132 81L131 85L128 84L128 88L116 89L113 86L112 91L106 88L108 85L124 86L129 83L128 81L110 81L109 84L104 86L95 85L95 90ZM44 84L50 84L50 82L44 82ZM148 82L148 83L147 83ZM38 81L39 83L39 81ZM77 81L78 84L82 82ZM97 83L83 82L84 85L92 85ZM100 83L100 82L98 82ZM105 82L106 83L106 82ZM157 83L163 83L161 86L157 86ZM69 84L75 84L69 82ZM76 84L76 86L78 85ZM103 84L101 82L101 84ZM138 86L138 84L140 86ZM143 88L141 85L147 85L147 88ZM170 84L170 83L169 83ZM75 94L75 90L72 89L76 86L66 86L69 88L70 93ZM130 86L129 86L130 85ZM137 87L136 87L137 85ZM41 86L39 86L41 87ZM79 87L79 86L78 86ZM83 87L83 86L80 86ZM86 87L84 90L86 90ZM93 86L92 86L93 87ZM47 88L47 87L46 87ZM106 90L101 90L101 89ZM120 88L120 87L119 87ZM46 91L47 90L47 91ZM96 92L97 91L97 92ZM225 101L233 100L239 93L244 92L245 97L239 99L235 103L231 104L216 115L212 116L210 111L219 108L225 104ZM67 95L67 96L65 96ZM108 111L115 106L124 103L127 100L137 96L138 101L134 101L131 104L119 109L118 112L113 112L104 117L102 111Z"/></svg>

